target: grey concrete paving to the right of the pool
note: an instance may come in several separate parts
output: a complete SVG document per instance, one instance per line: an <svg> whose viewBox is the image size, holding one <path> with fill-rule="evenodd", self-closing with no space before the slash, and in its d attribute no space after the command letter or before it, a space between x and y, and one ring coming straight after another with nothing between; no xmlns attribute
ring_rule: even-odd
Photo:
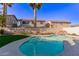
<svg viewBox="0 0 79 59"><path fill-rule="evenodd" d="M75 45L71 46L69 43L64 43L64 51L60 56L79 56L79 40L75 40Z"/></svg>

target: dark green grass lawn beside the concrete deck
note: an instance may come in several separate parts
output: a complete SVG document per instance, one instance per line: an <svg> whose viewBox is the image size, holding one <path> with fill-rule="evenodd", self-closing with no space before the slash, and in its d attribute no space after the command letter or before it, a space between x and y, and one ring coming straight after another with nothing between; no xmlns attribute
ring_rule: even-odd
<svg viewBox="0 0 79 59"><path fill-rule="evenodd" d="M7 35L7 36L0 36L0 48L11 43L13 41L17 41L23 38L29 37L27 35Z"/></svg>

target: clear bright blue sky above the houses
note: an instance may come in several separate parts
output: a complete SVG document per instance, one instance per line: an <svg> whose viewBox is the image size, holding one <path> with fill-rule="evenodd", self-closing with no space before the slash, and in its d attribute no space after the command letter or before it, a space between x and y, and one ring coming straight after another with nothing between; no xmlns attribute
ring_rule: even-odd
<svg viewBox="0 0 79 59"><path fill-rule="evenodd" d="M0 5L0 8L2 5ZM7 14L13 14L18 19L33 19L33 9L27 3L15 3L8 7ZM68 20L79 24L79 3L43 3L37 10L39 20Z"/></svg>

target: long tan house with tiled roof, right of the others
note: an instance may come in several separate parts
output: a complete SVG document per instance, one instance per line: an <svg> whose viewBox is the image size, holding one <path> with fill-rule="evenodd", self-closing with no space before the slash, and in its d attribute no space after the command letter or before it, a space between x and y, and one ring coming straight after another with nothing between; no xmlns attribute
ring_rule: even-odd
<svg viewBox="0 0 79 59"><path fill-rule="evenodd" d="M50 28L63 28L63 27L69 27L70 24L71 22L66 20L49 20L46 26Z"/></svg>

